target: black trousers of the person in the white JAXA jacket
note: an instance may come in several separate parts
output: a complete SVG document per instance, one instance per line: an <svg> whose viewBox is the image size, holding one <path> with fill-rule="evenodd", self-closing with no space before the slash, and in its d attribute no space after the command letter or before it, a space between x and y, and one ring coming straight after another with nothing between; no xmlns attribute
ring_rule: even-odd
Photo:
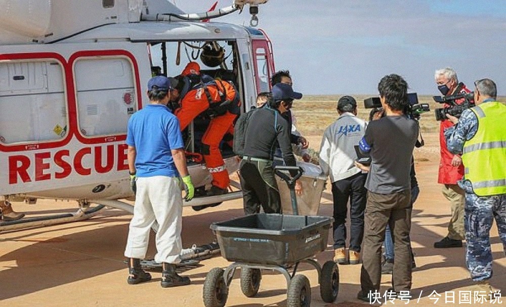
<svg viewBox="0 0 506 307"><path fill-rule="evenodd" d="M364 237L364 211L367 190L364 187L367 174L358 173L346 179L332 182L334 200L334 249L346 247L346 216L350 200L350 249L360 252Z"/></svg>

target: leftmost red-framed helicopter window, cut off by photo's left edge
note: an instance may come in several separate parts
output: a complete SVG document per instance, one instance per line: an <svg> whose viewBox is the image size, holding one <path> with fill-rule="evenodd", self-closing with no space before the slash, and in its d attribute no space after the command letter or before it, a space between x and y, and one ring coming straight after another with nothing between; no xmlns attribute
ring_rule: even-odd
<svg viewBox="0 0 506 307"><path fill-rule="evenodd" d="M65 96L58 62L0 62L0 142L63 139L68 133Z"/></svg>

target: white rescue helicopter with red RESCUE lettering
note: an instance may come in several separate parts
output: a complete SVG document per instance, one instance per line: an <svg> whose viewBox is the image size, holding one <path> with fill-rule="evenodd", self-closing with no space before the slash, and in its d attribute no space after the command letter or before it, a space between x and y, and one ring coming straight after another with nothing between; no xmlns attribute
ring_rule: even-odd
<svg viewBox="0 0 506 307"><path fill-rule="evenodd" d="M233 82L242 112L249 110L259 92L270 90L268 36L254 27L202 21L249 6L254 26L267 1L235 0L185 14L166 0L0 0L0 201L79 204L74 214L2 222L0 231L86 219L106 206L132 213L133 206L119 200L134 197L126 126L148 103L153 70L175 76L196 61L202 72ZM223 60L205 65L205 49L223 50ZM211 180L197 150L203 130L191 125L186 141L190 175L202 189ZM229 174L236 172L232 150L222 153ZM236 189L185 206L239 197Z"/></svg>

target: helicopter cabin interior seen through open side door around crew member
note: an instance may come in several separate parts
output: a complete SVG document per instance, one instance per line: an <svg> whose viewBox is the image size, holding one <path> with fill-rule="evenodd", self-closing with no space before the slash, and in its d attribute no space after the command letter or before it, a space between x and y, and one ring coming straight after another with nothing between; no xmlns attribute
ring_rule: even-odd
<svg viewBox="0 0 506 307"><path fill-rule="evenodd" d="M242 80L237 44L228 41L164 41L151 42L151 71L153 75L177 76L189 62L197 62L202 74L232 82L243 100ZM202 162L201 139L210 119L200 114L183 131L188 164ZM226 134L220 144L224 159L235 156L232 151L233 135Z"/></svg>

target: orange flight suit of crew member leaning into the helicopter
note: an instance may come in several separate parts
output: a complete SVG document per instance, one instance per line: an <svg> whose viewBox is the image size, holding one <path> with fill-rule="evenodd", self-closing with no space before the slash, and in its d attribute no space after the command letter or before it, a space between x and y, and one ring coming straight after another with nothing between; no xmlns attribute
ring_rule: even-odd
<svg viewBox="0 0 506 307"><path fill-rule="evenodd" d="M233 101L235 97L235 88L227 81L216 80L217 85L207 85L212 101L207 100L207 95L203 88L190 90L181 99L181 108L177 109L175 115L179 119L181 131L183 131L190 122L195 119L200 113L209 109L209 103L221 101L220 91L223 93L224 88L226 92L226 99ZM204 156L205 166L209 173L213 176L212 184L225 189L230 184L227 169L220 152L220 142L223 136L230 131L233 131L233 123L236 114L226 111L225 114L219 115L211 119L207 130L202 137L202 144L208 147L207 150L202 150Z"/></svg>

